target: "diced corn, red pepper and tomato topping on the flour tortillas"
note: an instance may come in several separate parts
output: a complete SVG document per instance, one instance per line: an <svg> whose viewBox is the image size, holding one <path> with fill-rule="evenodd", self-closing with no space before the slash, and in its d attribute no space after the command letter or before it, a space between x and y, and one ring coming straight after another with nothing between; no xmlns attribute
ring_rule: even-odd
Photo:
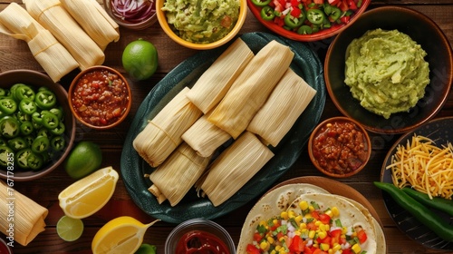
<svg viewBox="0 0 453 254"><path fill-rule="evenodd" d="M343 226L337 207L320 209L314 201L299 202L301 214L282 211L260 221L247 254L363 254L367 234L361 226Z"/></svg>

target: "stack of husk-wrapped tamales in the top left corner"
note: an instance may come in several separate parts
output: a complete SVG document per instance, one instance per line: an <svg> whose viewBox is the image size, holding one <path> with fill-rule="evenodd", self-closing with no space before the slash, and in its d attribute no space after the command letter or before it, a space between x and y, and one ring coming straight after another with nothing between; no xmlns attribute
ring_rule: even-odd
<svg viewBox="0 0 453 254"><path fill-rule="evenodd" d="M54 82L104 61L119 26L95 0L23 0L0 13L0 33L24 40Z"/></svg>

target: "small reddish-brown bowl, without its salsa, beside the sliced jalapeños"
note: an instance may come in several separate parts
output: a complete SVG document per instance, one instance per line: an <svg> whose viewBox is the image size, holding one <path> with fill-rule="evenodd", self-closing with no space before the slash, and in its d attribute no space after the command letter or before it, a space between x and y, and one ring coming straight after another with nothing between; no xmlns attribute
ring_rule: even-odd
<svg viewBox="0 0 453 254"><path fill-rule="evenodd" d="M109 73L114 73L114 74L118 75L120 80L126 84L127 93L128 93L127 94L128 102L122 109L122 111L121 111L122 114L120 115L120 117L115 122L111 122L110 124L105 124L105 125L96 125L96 124L92 124L91 122L83 121L79 112L76 111L72 105L72 97L73 97L74 89L77 86L77 83L79 82L79 80L86 73L92 73L92 72L98 72L98 71L108 71ZM77 76L75 76L75 78L72 80L71 86L69 87L68 101L69 101L69 106L71 108L72 114L75 116L77 121L82 122L82 124L84 124L85 126L88 126L95 130L105 130L105 129L111 129L111 128L117 126L118 124L120 124L120 122L122 122L122 121L124 121L124 119L126 119L126 117L128 116L128 114L130 112L130 107L132 106L132 93L130 91L130 85L129 85L128 81L121 73L119 73L117 70L115 70L111 67L97 65L97 66L92 66L90 68L87 68L87 69L83 70L81 73L77 74Z"/></svg>

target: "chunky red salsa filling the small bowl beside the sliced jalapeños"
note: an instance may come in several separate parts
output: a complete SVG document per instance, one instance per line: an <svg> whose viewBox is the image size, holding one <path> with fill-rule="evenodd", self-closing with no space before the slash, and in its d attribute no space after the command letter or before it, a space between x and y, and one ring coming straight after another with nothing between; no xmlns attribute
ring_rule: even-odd
<svg viewBox="0 0 453 254"><path fill-rule="evenodd" d="M83 122L105 126L126 112L130 94L118 74L94 70L82 75L72 92L72 107Z"/></svg>

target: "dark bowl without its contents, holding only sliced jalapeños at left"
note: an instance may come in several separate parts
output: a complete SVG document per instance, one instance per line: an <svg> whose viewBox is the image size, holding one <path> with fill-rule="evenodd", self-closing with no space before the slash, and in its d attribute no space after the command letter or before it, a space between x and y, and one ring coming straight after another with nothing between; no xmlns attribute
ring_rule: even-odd
<svg viewBox="0 0 453 254"><path fill-rule="evenodd" d="M14 83L25 83L34 86L35 88L47 87L56 94L58 103L63 107L64 125L66 139L66 148L59 155L58 159L51 161L40 171L22 171L14 170L14 175L7 173L5 169L0 169L0 177L3 179L12 179L14 181L32 181L43 177L56 169L66 158L72 149L72 144L75 138L75 119L69 109L68 93L59 83L53 83L52 79L46 74L31 71L31 70L14 70L5 73L0 73L0 87L9 88Z"/></svg>

